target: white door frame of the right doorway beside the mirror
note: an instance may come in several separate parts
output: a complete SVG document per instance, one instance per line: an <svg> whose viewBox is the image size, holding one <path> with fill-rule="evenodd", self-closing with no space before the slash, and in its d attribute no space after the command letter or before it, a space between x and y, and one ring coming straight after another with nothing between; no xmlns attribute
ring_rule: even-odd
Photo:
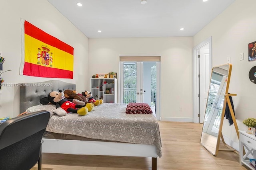
<svg viewBox="0 0 256 170"><path fill-rule="evenodd" d="M194 123L199 123L198 113L199 113L199 82L198 82L198 74L199 74L199 59L198 59L198 50L202 48L204 45L209 43L209 62L210 69L212 69L212 36L205 39L198 45L193 48L193 119Z"/></svg>

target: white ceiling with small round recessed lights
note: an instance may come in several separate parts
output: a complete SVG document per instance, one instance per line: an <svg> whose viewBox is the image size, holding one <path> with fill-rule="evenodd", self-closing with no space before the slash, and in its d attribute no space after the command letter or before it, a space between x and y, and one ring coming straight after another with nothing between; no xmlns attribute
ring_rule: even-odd
<svg viewBox="0 0 256 170"><path fill-rule="evenodd" d="M114 38L194 36L235 0L48 1L88 38Z"/></svg>

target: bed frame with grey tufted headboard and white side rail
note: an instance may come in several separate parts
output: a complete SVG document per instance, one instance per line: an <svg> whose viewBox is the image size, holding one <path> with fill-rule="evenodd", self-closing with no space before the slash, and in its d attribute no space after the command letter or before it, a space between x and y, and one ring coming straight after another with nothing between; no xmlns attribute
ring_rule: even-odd
<svg viewBox="0 0 256 170"><path fill-rule="evenodd" d="M52 84L52 86L20 86L20 113L28 107L40 104L40 98L48 96L51 91L76 89L75 84L60 80L50 80L38 84ZM157 169L158 155L155 145L45 138L43 141L43 153L151 157L152 170Z"/></svg>

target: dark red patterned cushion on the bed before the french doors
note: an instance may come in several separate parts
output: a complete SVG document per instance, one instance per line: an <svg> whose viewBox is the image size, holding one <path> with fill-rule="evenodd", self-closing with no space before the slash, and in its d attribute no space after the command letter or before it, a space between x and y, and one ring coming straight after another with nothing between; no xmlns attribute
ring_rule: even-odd
<svg viewBox="0 0 256 170"><path fill-rule="evenodd" d="M151 114L153 113L147 103L129 103L127 105L126 114Z"/></svg>

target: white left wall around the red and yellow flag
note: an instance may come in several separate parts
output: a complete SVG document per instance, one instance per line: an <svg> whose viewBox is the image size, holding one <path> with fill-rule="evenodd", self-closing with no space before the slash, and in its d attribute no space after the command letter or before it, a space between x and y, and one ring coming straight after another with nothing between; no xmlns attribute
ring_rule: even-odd
<svg viewBox="0 0 256 170"><path fill-rule="evenodd" d="M0 0L0 51L3 51L4 83L42 82L57 78L40 78L19 75L21 59L21 22L27 20L46 33L74 48L74 78L58 79L76 83L78 92L87 88L88 38L82 34L47 0ZM19 88L2 87L0 117L19 114Z"/></svg>

